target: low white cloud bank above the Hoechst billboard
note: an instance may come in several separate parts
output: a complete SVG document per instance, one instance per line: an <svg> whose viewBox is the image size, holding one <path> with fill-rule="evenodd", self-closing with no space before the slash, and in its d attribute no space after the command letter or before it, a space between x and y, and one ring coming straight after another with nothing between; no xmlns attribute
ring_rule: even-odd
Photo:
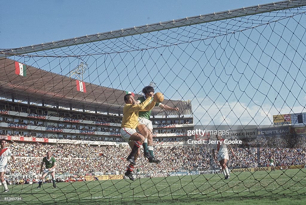
<svg viewBox="0 0 306 205"><path fill-rule="evenodd" d="M197 99L192 101L195 124L202 125L271 125L273 115L306 112L302 106L282 106L275 108L273 104L256 105L241 102L213 102L210 99ZM291 111L292 109L292 111Z"/></svg>

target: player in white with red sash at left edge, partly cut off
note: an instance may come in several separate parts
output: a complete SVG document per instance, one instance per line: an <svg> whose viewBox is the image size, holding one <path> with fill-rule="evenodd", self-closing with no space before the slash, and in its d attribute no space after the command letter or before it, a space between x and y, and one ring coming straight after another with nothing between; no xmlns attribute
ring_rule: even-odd
<svg viewBox="0 0 306 205"><path fill-rule="evenodd" d="M0 140L0 147L1 147L0 149L0 181L4 187L4 192L9 192L6 181L4 179L4 174L6 171L8 158L11 157L13 162L15 162L15 158L11 150L8 148L5 148L5 146L6 146L6 140L5 139Z"/></svg>

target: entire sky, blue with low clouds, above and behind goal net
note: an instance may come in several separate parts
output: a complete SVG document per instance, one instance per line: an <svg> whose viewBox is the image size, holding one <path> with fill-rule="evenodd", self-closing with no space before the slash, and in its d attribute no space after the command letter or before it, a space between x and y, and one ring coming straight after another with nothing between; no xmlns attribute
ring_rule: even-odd
<svg viewBox="0 0 306 205"><path fill-rule="evenodd" d="M0 47L29 46L265 3L271 2L1 1ZM22 12L18 12L20 8ZM114 52L106 55L48 61L36 57L24 62L67 75L84 61L89 65L85 82L136 93L154 80L166 98L192 101L196 123L271 124L272 115L278 112L306 112L306 78L302 72L306 47L301 41L306 25L298 24L305 22L305 15L264 24L277 20L274 14L269 15L52 51L57 55ZM250 25L258 27L241 31ZM222 35L228 31L239 32ZM195 40L183 43L191 38ZM179 44L154 48L157 43L169 42ZM137 46L145 49L120 53Z"/></svg>

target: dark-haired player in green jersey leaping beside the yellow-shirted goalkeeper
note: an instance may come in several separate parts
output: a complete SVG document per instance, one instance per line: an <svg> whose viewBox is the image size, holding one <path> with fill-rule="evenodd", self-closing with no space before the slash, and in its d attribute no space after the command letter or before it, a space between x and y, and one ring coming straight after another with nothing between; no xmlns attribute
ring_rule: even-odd
<svg viewBox="0 0 306 205"><path fill-rule="evenodd" d="M144 89L142 89L142 92L144 93L144 96L141 96L137 99L136 103L140 104L143 101L145 101L150 95L150 92L154 93L154 88L152 86L146 86ZM162 104L162 103L156 103L155 106L159 106L160 108L163 108L165 110L174 110L179 111L178 108L172 108L168 105ZM138 130L140 133L145 137L144 141L144 152L149 152L151 156L154 157L154 149L153 149L153 125L150 120L151 111L140 111L138 115ZM155 158L156 159L156 158ZM156 160L149 160L151 163L159 163L160 161L158 159Z"/></svg>

